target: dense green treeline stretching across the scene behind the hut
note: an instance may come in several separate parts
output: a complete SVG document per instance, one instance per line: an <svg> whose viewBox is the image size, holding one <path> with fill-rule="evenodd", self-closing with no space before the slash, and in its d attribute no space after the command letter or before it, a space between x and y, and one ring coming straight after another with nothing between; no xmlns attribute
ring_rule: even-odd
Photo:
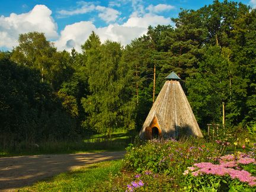
<svg viewBox="0 0 256 192"><path fill-rule="evenodd" d="M82 53L59 52L41 33L21 34L0 55L1 145L139 130L171 71L183 79L201 129L255 131L255 9L214 1L172 20L175 28L149 27L126 47L92 32Z"/></svg>

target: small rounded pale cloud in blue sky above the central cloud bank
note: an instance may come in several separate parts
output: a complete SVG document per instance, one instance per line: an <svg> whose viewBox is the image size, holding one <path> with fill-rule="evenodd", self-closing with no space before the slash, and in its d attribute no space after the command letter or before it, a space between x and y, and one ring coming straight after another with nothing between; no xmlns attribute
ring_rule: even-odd
<svg viewBox="0 0 256 192"><path fill-rule="evenodd" d="M100 11L100 14L98 14L98 17L101 18L101 20L105 21L106 23L110 23L111 21L116 21L117 18L120 15L120 12L116 9L107 8L103 6L97 6L96 10Z"/></svg>

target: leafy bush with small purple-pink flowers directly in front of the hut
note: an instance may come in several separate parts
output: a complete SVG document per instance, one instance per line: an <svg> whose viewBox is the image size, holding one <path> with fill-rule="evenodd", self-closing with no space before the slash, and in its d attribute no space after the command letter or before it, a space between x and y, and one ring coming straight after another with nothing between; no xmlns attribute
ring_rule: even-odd
<svg viewBox="0 0 256 192"><path fill-rule="evenodd" d="M184 180L183 171L189 165L201 161L215 162L213 157L219 156L216 148L216 143L207 143L204 139L190 138L183 142L150 140L145 145L127 148L124 168L145 175L169 175L173 182L180 183Z"/></svg>

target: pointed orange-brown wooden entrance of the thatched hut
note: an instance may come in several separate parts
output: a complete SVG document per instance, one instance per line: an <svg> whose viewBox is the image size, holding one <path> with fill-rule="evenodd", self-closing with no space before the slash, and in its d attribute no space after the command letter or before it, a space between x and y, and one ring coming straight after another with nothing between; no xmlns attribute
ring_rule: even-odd
<svg viewBox="0 0 256 192"><path fill-rule="evenodd" d="M154 117L150 126L145 129L145 137L148 140L151 139L161 139L161 129L159 129L158 120Z"/></svg>

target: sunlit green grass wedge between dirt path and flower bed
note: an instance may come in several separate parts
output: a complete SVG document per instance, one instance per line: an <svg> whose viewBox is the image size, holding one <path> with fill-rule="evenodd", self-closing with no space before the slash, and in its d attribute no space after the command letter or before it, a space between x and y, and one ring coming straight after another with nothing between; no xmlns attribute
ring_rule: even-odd
<svg viewBox="0 0 256 192"><path fill-rule="evenodd" d="M46 181L21 188L19 191L102 191L121 169L121 160L105 161L59 174ZM98 186L101 185L101 189Z"/></svg>

